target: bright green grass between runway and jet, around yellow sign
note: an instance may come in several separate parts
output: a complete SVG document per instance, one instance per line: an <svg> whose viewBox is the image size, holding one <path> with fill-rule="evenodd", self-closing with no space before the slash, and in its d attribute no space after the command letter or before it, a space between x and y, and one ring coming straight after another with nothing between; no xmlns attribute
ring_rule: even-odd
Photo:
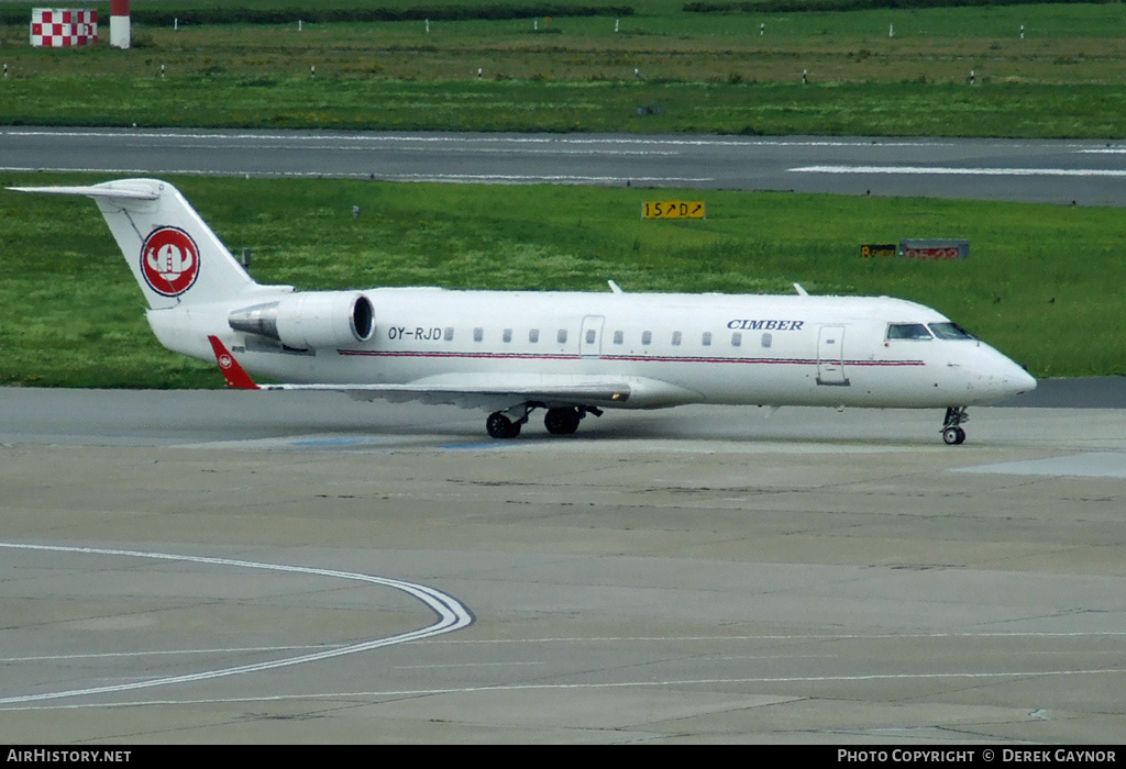
<svg viewBox="0 0 1126 769"><path fill-rule="evenodd" d="M91 179L0 174L0 186ZM890 295L946 313L1038 376L1126 373L1126 220L1114 209L709 192L704 221L645 221L674 190L176 183L260 282L627 291ZM358 219L351 207L361 207ZM861 243L967 237L969 260L863 260ZM1109 288L1108 288L1109 287ZM164 352L96 207L0 192L0 382L216 387Z"/></svg>

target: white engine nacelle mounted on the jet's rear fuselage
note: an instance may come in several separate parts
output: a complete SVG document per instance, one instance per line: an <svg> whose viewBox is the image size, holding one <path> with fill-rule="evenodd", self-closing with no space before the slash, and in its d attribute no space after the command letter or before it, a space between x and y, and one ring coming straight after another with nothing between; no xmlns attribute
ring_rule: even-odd
<svg viewBox="0 0 1126 769"><path fill-rule="evenodd" d="M227 323L295 350L338 347L372 338L375 308L359 292L307 291L235 310Z"/></svg>

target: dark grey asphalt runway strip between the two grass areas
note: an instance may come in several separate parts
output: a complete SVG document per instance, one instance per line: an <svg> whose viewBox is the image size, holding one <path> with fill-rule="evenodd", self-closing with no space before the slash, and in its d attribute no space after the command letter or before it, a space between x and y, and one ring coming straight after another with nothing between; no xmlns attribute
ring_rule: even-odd
<svg viewBox="0 0 1126 769"><path fill-rule="evenodd" d="M314 177L1123 206L1121 143L0 127L0 172Z"/></svg>

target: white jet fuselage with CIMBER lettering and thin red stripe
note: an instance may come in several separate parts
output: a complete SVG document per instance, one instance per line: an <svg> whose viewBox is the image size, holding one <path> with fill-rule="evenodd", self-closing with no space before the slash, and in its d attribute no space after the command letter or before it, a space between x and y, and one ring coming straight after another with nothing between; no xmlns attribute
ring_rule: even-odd
<svg viewBox="0 0 1126 769"><path fill-rule="evenodd" d="M226 328L243 367L292 382L446 382L536 376L636 377L665 383L615 406L688 402L947 407L993 402L1035 386L975 338L890 338L897 324L949 324L924 306L891 298L677 293L363 291L370 338L294 350ZM245 304L245 302L243 302ZM235 309L213 309L225 326ZM182 310L152 310L168 346L187 338ZM193 315L198 318L199 309ZM162 327L178 329L164 338ZM180 347L203 360L203 345Z"/></svg>

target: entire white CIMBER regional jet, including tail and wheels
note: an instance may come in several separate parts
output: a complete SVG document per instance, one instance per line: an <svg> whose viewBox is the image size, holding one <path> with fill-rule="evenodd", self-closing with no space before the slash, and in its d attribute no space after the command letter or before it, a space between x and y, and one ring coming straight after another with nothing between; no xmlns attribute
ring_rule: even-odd
<svg viewBox="0 0 1126 769"><path fill-rule="evenodd" d="M483 408L497 438L537 408L573 433L605 408L683 404L945 408L1036 387L1019 365L932 309L886 297L453 291L296 292L260 286L171 184L12 188L101 209L169 350L245 373L373 400ZM238 361L235 360L238 356ZM241 365L240 365L241 362Z"/></svg>

